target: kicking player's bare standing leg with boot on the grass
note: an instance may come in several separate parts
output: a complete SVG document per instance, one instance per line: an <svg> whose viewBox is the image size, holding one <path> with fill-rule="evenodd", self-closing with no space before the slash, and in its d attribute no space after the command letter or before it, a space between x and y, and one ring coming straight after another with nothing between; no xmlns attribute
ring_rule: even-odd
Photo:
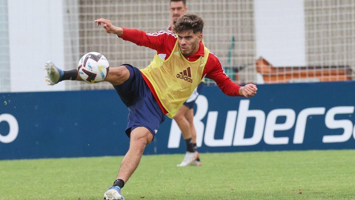
<svg viewBox="0 0 355 200"><path fill-rule="evenodd" d="M114 185L105 192L104 199L124 199L121 195L121 188L137 169L142 158L144 148L152 140L153 135L151 131L145 127L137 127L131 131L130 148L125 157L122 159L121 168L118 172Z"/></svg>

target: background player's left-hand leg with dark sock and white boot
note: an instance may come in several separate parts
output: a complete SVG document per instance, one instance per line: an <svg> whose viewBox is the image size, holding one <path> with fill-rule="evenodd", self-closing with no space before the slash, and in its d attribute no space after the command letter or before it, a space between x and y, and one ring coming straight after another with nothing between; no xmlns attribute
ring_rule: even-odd
<svg viewBox="0 0 355 200"><path fill-rule="evenodd" d="M190 110L189 107L182 105L178 112L176 112L176 115L174 116L174 120L178 124L182 137L185 140L186 143L186 154L184 157L184 160L180 164L178 164L178 167L185 167L190 165L193 160L195 160L198 157L198 153L193 150L193 144L192 144L192 138L191 138L191 130L190 130L190 123L187 121L185 114Z"/></svg>

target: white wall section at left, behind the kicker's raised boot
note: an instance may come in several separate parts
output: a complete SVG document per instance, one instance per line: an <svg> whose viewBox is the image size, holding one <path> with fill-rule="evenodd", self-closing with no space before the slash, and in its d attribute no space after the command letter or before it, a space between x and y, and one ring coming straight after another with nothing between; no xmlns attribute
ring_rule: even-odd
<svg viewBox="0 0 355 200"><path fill-rule="evenodd" d="M64 90L48 86L44 64L64 65L61 0L8 0L11 92Z"/></svg>

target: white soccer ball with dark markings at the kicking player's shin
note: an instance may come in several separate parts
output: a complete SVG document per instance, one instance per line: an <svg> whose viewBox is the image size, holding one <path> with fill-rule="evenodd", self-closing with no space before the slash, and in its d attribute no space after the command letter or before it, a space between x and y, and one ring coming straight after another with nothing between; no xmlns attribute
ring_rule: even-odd
<svg viewBox="0 0 355 200"><path fill-rule="evenodd" d="M109 73L109 69L108 60L97 52L86 53L78 63L79 75L88 83L103 81Z"/></svg>

